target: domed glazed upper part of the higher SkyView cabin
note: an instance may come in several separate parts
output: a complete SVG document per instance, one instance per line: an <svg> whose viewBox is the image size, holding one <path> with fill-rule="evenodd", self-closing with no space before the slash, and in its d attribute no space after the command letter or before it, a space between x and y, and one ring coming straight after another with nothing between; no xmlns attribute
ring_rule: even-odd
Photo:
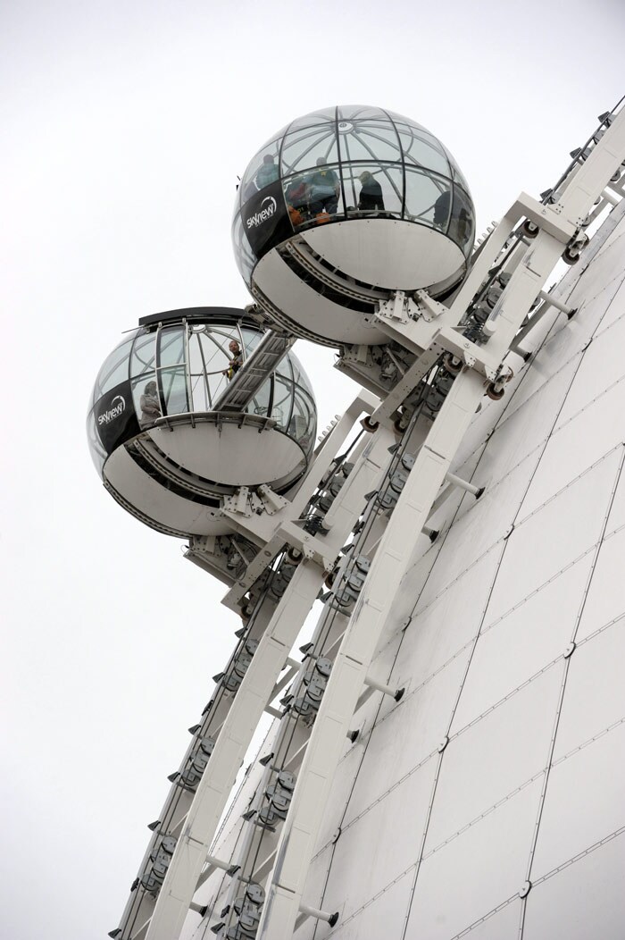
<svg viewBox="0 0 625 940"><path fill-rule="evenodd" d="M434 227L465 256L473 245L475 212L465 180L420 124L360 104L297 118L243 174L233 243L245 283L251 286L258 259L295 232L363 214Z"/></svg>

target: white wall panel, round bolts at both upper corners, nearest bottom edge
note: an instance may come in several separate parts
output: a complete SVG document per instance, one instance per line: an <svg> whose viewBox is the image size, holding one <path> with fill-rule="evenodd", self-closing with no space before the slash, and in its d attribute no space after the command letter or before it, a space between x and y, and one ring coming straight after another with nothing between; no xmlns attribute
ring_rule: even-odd
<svg viewBox="0 0 625 940"><path fill-rule="evenodd" d="M563 664L556 663L450 739L436 785L426 855L544 770L562 673Z"/></svg>

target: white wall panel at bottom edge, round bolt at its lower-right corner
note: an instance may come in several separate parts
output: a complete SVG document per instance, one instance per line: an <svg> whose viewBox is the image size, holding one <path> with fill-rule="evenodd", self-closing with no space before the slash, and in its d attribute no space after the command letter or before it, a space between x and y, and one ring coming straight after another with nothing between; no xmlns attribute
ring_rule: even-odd
<svg viewBox="0 0 625 940"><path fill-rule="evenodd" d="M450 940L518 893L539 796L537 780L421 864L407 937Z"/></svg>

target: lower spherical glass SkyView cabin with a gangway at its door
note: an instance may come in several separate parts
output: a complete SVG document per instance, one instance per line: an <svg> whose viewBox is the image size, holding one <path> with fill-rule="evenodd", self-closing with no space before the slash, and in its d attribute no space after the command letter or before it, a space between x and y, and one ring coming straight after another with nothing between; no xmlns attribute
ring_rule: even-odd
<svg viewBox="0 0 625 940"><path fill-rule="evenodd" d="M305 473L316 408L292 352L244 406L232 402L262 337L242 310L173 310L139 321L105 360L89 447L106 488L142 522L180 537L222 534L220 497L262 483L285 493Z"/></svg>

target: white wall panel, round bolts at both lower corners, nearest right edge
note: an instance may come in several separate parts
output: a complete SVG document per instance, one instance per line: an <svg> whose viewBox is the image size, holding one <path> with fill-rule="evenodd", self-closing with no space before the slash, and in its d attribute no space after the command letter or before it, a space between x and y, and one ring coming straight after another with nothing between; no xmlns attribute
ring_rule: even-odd
<svg viewBox="0 0 625 940"><path fill-rule="evenodd" d="M563 655L584 599L591 562L589 555L582 558L479 636L452 732Z"/></svg>

